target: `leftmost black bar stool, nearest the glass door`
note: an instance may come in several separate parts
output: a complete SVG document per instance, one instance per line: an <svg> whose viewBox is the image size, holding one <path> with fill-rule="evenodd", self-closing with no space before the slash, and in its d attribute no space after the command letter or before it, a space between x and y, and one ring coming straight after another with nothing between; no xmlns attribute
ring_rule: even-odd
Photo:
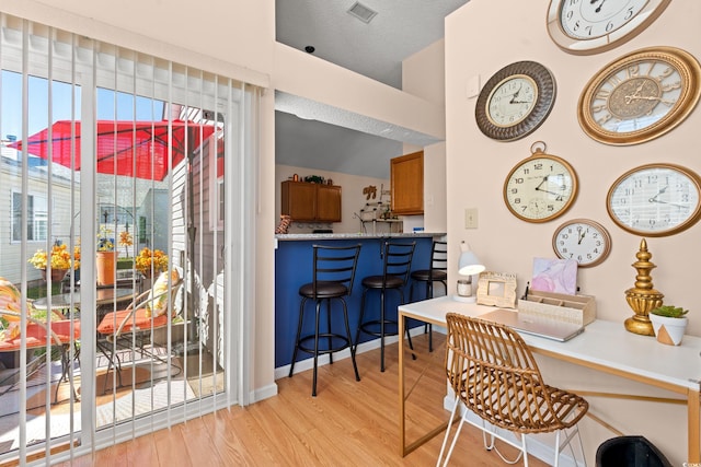
<svg viewBox="0 0 701 467"><path fill-rule="evenodd" d="M295 351L292 352L292 363L289 367L289 376L292 376L298 350L313 354L314 372L311 386L312 397L317 396L317 363L320 354L327 353L329 362L333 363L333 352L338 352L349 348L350 360L353 361L353 369L355 370L355 380L360 381L358 366L355 363L355 347L353 346L350 327L348 326L348 308L344 299L345 296L350 295L350 291L353 290L353 281L355 279L355 270L358 264L360 246L361 245L359 244L354 246L313 245L314 260L312 281L299 288L299 294L302 296L302 302L299 305L299 324L297 325L297 338L295 339ZM331 302L334 299L340 300L343 305L343 319L345 325L344 335L334 332L331 329ZM302 337L302 322L307 300L313 300L317 302L314 334ZM320 332L319 322L321 304L324 301L326 302L326 332ZM308 343L312 341L313 347Z"/></svg>

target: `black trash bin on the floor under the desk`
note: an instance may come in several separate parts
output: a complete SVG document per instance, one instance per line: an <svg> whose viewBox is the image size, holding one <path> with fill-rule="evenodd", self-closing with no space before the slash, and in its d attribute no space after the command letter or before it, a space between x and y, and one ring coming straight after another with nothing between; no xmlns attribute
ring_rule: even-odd
<svg viewBox="0 0 701 467"><path fill-rule="evenodd" d="M596 450L596 467L673 467L644 436L619 436Z"/></svg>

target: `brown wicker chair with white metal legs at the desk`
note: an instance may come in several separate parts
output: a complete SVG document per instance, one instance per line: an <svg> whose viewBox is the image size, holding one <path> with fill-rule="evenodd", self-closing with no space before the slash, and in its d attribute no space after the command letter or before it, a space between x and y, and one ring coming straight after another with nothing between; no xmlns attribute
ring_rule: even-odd
<svg viewBox="0 0 701 467"><path fill-rule="evenodd" d="M457 395L450 420L455 419L459 406L464 405L468 410L463 411L444 466L448 464L463 423L482 430L485 447L494 448L509 464L522 456L524 465L528 466L526 435L533 433L556 433L554 466L558 466L560 452L566 445L575 456L571 445L575 435L579 439L581 453L584 453L577 423L589 405L576 394L548 386L543 382L530 349L518 332L504 325L455 313L446 315L446 374ZM469 412L479 416L482 422L469 420ZM446 431L437 465L444 457L451 424ZM520 436L506 437L496 429ZM563 432L566 436L561 442ZM520 450L518 457L513 462L507 460L496 450L495 437Z"/></svg>

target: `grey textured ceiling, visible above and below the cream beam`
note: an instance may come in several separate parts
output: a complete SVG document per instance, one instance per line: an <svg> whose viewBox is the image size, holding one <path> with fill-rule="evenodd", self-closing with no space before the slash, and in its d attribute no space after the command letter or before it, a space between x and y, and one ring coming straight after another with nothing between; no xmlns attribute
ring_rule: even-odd
<svg viewBox="0 0 701 467"><path fill-rule="evenodd" d="M369 24L347 12L355 0L277 0L277 42L401 89L402 60L444 37L444 19L468 0L363 0ZM402 143L435 139L298 96L277 93L276 162L389 178ZM299 118L302 116L304 118ZM311 119L309 119L311 118Z"/></svg>

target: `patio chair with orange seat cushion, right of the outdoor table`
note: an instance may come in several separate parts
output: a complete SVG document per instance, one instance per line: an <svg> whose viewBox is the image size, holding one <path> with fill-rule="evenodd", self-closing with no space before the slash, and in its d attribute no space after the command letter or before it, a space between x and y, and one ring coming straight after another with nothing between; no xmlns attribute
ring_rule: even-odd
<svg viewBox="0 0 701 467"><path fill-rule="evenodd" d="M138 294L125 310L110 312L102 318L97 326L97 332L102 337L97 339L97 348L107 359L103 393L106 392L107 375L113 367L117 371L118 386L122 386L122 362L117 354L119 340L127 338L131 342L129 338L134 334L141 342L141 353L148 353L143 348L146 336L157 329L166 328L172 323L179 311L176 297L182 283L183 279L177 270L173 269L171 275L162 272L153 288ZM169 304L171 315L168 314ZM158 359L154 354L151 357Z"/></svg>

